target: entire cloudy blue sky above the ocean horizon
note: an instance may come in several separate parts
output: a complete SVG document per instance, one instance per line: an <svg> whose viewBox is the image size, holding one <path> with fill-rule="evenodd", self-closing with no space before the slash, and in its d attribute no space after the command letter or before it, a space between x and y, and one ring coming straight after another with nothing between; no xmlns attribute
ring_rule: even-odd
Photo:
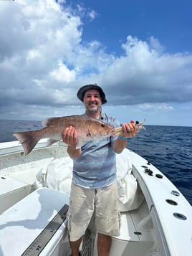
<svg viewBox="0 0 192 256"><path fill-rule="evenodd" d="M0 0L0 119L80 115L192 126L191 0Z"/></svg>

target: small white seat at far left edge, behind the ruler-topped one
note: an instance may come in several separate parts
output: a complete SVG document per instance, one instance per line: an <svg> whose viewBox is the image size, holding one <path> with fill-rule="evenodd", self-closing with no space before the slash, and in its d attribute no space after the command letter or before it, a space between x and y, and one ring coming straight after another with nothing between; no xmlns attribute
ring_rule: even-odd
<svg viewBox="0 0 192 256"><path fill-rule="evenodd" d="M0 214L27 196L32 185L12 177L0 177Z"/></svg>

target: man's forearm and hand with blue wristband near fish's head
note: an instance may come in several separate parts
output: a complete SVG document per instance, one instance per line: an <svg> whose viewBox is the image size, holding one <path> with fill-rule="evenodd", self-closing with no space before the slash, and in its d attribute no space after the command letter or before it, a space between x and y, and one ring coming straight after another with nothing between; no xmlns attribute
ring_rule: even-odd
<svg viewBox="0 0 192 256"><path fill-rule="evenodd" d="M122 134L113 143L113 149L116 153L121 153L127 146L127 138L132 138L138 134L138 129L135 123L123 123Z"/></svg>

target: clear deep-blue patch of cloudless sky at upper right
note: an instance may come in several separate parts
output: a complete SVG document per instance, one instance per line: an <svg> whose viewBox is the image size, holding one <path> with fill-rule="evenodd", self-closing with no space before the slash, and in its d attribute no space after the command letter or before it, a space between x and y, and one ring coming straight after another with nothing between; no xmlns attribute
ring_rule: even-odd
<svg viewBox="0 0 192 256"><path fill-rule="evenodd" d="M191 1L84 1L97 12L85 24L85 40L100 39L109 52L122 54L128 34L146 40L153 36L169 52L191 51ZM110 8L109 8L110 6Z"/></svg>

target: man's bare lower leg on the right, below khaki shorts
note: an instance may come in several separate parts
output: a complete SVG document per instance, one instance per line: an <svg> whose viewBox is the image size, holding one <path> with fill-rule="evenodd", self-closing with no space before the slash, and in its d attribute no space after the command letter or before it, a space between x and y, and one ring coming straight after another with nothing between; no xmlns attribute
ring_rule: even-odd
<svg viewBox="0 0 192 256"><path fill-rule="evenodd" d="M109 256L112 238L106 234L98 233L97 251L98 256Z"/></svg>

